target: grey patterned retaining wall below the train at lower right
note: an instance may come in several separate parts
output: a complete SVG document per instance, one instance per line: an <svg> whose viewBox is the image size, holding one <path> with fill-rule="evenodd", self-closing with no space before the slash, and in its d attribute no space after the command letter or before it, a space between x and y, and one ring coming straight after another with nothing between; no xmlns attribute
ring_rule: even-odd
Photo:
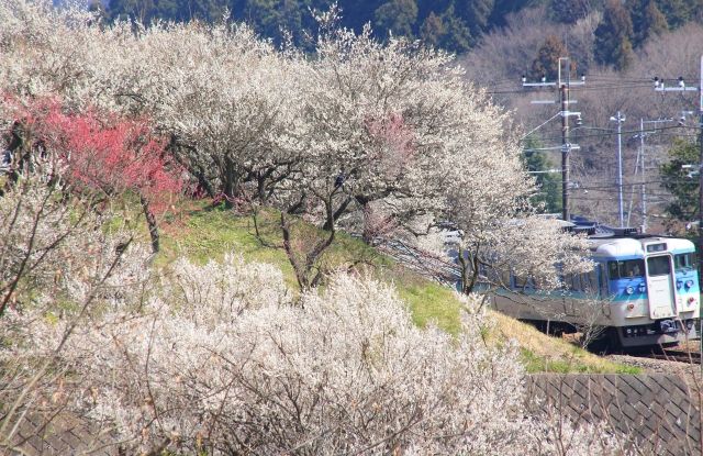
<svg viewBox="0 0 703 456"><path fill-rule="evenodd" d="M677 375L538 374L527 378L528 405L578 421L605 421L644 454L701 455L699 397Z"/></svg>

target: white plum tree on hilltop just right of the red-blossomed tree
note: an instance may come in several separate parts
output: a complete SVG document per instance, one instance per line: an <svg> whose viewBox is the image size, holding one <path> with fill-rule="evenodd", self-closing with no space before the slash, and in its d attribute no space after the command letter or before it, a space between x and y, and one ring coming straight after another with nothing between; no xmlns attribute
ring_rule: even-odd
<svg viewBox="0 0 703 456"><path fill-rule="evenodd" d="M171 62L150 71L171 88L156 98L154 109L159 126L172 136L174 153L211 196L232 202L250 182L249 197L267 202L298 170L297 86L304 65L243 25L187 25L154 35L145 33L143 41L169 41ZM156 74L165 67L174 69L165 77Z"/></svg>

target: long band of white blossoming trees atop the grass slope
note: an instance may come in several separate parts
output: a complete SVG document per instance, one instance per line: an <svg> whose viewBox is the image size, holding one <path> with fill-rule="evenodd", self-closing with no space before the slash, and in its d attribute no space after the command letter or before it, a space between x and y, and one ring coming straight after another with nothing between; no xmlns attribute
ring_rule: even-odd
<svg viewBox="0 0 703 456"><path fill-rule="evenodd" d="M244 25L101 24L77 9L9 0L0 88L150 118L212 197L301 208L367 240L449 222L487 263L499 238L521 240L549 266L571 253L556 248L569 244L558 231L538 243L555 247L537 249L531 232L510 226L534 212L535 191L510 113L467 82L453 56L327 26L335 14L321 15L305 56Z"/></svg>

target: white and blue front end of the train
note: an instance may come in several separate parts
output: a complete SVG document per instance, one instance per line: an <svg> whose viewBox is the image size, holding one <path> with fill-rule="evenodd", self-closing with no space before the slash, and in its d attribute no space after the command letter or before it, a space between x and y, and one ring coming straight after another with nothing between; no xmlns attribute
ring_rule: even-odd
<svg viewBox="0 0 703 456"><path fill-rule="evenodd" d="M699 338L701 291L692 242L628 238L599 251L607 257L611 321L623 347Z"/></svg>

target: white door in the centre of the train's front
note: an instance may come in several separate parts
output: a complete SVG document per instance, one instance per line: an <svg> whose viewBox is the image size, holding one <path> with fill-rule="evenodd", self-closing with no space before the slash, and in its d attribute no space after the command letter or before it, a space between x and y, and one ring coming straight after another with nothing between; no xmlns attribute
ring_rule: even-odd
<svg viewBox="0 0 703 456"><path fill-rule="evenodd" d="M671 255L647 258L647 297L649 299L649 316L652 320L668 319L677 314L672 269Z"/></svg>

